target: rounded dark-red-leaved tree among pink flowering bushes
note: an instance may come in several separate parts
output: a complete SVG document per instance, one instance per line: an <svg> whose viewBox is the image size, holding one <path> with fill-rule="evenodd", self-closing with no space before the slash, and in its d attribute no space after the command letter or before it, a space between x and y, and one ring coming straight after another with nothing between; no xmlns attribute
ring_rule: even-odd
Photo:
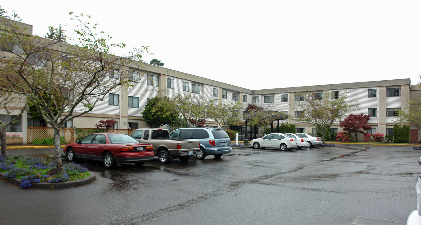
<svg viewBox="0 0 421 225"><path fill-rule="evenodd" d="M369 115L364 114L349 114L349 116L346 116L344 121L339 122L339 127L343 127L343 129L349 133L355 134L355 141L358 141L357 133L364 134L365 132L362 132L362 130L370 130L371 126L368 125L368 120L370 119Z"/></svg>

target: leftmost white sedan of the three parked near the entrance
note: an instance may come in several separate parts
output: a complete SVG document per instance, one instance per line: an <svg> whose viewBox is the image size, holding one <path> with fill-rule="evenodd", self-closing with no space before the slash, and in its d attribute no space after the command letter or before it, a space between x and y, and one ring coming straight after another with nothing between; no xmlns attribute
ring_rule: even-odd
<svg viewBox="0 0 421 225"><path fill-rule="evenodd" d="M250 141L249 146L253 148L280 148L281 150L289 150L298 146L297 138L291 138L280 133L272 133L263 138L256 138Z"/></svg>

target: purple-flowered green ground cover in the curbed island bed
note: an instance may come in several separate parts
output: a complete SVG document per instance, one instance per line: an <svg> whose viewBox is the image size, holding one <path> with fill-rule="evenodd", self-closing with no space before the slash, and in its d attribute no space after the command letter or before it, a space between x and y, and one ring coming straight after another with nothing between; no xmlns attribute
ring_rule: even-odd
<svg viewBox="0 0 421 225"><path fill-rule="evenodd" d="M30 188L38 182L59 183L80 180L91 175L86 167L69 162L63 165L63 172L55 172L53 157L46 158L18 156L0 156L0 172L7 178L21 180L22 188Z"/></svg>

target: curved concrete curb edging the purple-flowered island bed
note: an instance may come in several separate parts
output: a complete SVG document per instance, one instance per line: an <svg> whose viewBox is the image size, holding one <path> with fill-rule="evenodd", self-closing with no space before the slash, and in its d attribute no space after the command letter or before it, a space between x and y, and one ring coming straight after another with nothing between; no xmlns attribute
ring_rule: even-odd
<svg viewBox="0 0 421 225"><path fill-rule="evenodd" d="M57 188L73 188L77 186L82 186L85 184L92 183L96 180L96 176L93 172L90 172L91 175L86 177L82 180L74 180L74 181L67 181L67 182L59 182L59 183L47 183L47 182L40 182L32 184L31 188L41 188L41 189L57 189ZM0 179L5 180L11 184L17 185L20 187L21 180L17 178L6 178L5 173L0 172Z"/></svg>

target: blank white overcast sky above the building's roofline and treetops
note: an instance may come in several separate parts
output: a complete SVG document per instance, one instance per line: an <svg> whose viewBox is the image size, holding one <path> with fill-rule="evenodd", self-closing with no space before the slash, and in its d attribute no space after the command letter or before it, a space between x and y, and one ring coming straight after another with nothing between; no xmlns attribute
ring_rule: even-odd
<svg viewBox="0 0 421 225"><path fill-rule="evenodd" d="M251 90L421 74L419 0L12 1L44 36L91 15L115 42L149 46L163 67ZM67 28L68 30L71 30Z"/></svg>

